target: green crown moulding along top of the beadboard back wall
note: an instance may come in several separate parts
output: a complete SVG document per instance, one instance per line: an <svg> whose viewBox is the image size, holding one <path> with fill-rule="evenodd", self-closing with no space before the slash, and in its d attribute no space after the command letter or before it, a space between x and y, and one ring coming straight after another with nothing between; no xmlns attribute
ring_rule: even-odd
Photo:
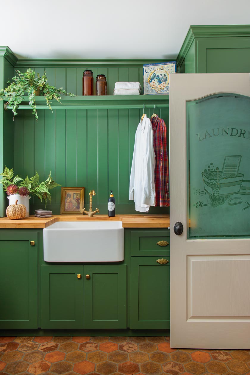
<svg viewBox="0 0 250 375"><path fill-rule="evenodd" d="M18 59L16 68L142 68L143 64L172 61L173 59L81 59L81 58L34 58Z"/></svg>

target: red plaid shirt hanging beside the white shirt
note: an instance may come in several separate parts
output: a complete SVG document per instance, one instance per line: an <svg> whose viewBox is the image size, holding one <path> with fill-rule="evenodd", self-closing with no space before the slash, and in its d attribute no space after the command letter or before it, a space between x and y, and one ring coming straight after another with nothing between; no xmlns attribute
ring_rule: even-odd
<svg viewBox="0 0 250 375"><path fill-rule="evenodd" d="M162 118L151 119L153 127L154 153L156 164L154 169L154 184L156 187L156 206L169 206L169 166L167 149L167 129Z"/></svg>

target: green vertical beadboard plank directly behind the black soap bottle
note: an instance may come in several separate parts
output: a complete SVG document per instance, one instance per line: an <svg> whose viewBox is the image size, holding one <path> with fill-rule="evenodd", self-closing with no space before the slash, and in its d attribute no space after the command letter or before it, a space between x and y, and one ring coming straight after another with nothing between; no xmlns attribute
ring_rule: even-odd
<svg viewBox="0 0 250 375"><path fill-rule="evenodd" d="M116 204L119 203L119 140L118 110L108 110L108 174L109 190L114 190Z"/></svg>

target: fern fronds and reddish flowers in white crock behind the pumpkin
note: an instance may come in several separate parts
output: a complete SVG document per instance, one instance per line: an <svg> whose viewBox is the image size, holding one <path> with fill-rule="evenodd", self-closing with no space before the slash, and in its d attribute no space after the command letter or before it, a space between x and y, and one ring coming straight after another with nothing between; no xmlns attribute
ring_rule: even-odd
<svg viewBox="0 0 250 375"><path fill-rule="evenodd" d="M9 169L6 166L3 173L1 173L0 175L2 176L0 183L3 184L3 189L8 195L35 195L38 196L41 201L43 199L45 200L45 207L47 204L47 200L51 202L51 195L49 190L53 189L54 187L61 186L52 179L51 171L49 172L49 177L47 178L47 180L42 182L39 181L40 178L37 172L31 178L29 178L28 176L22 178L19 175L16 175L14 177L13 169Z"/></svg>

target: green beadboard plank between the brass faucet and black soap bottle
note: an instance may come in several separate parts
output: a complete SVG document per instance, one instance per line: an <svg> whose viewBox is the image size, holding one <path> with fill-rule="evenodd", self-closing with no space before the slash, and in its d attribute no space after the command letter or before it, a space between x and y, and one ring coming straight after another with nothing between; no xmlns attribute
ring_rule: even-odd
<svg viewBox="0 0 250 375"><path fill-rule="evenodd" d="M99 204L108 202L108 110L98 110L98 197Z"/></svg>

